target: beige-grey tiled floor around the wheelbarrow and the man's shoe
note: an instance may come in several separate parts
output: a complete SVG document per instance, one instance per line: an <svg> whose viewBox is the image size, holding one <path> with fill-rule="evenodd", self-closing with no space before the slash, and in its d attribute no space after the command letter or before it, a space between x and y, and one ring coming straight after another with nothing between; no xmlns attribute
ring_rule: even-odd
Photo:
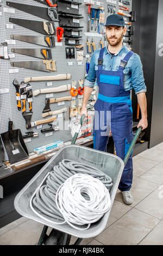
<svg viewBox="0 0 163 256"><path fill-rule="evenodd" d="M133 160L134 203L125 205L117 191L104 231L84 239L81 245L163 245L163 143ZM42 228L42 224L22 217L0 229L0 245L36 245ZM76 237L71 244L74 241Z"/></svg>

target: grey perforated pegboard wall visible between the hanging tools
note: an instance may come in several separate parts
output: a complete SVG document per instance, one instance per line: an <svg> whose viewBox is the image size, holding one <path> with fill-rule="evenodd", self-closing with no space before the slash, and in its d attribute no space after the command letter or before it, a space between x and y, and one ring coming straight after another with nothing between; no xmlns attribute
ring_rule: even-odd
<svg viewBox="0 0 163 256"><path fill-rule="evenodd" d="M35 5L37 7L44 7L47 8L46 5L36 2L34 0L28 0L23 1L22 0L11 0L9 2L15 2L15 3L23 3L23 4L29 4L29 5ZM71 74L71 80L59 80L59 81L52 81L51 86L47 86L47 81L41 81L41 82L30 82L30 85L34 90L41 89L41 88L49 88L49 87L58 87L61 85L67 85L71 84L72 80L77 81L85 78L86 74L86 60L89 58L91 59L91 54L89 54L89 57L87 56L87 47L86 47L86 41L87 38L90 39L90 43L93 39L93 41L96 44L96 50L101 48L101 44L99 43L102 39L104 46L104 34L98 34L97 31L95 32L95 22L93 26L93 30L90 33L87 33L87 5L86 3L92 3L93 8L99 8L101 5L104 7L105 12L105 21L106 17L108 16L108 4L115 5L116 7L116 14L118 12L118 1L113 0L101 0L100 2L97 1L91 1L91 0L84 0L84 1L77 1L76 2L82 2L82 4L79 5L79 14L82 14L83 19L80 19L80 26L83 28L83 32L80 32L80 35L83 37L80 38L80 45L84 46L84 59L83 63L78 63L77 61L77 51L75 49L75 59L66 59L66 51L65 47L71 47L65 45L65 38L62 40L62 43L60 45L56 45L54 48L51 48L52 51L52 60L56 61L56 68L57 72L41 72L37 70L30 70L30 69L24 69L24 68L13 68L10 65L10 62L17 62L17 61L40 61L39 58L34 58L26 55L20 55L15 53L14 58L9 59L0 59L0 74L1 74L1 85L0 85L0 97L1 97L1 103L0 103L0 133L7 132L8 130L8 121L9 118L11 121L14 122L14 129L21 129L22 135L25 135L27 131L33 131L37 132L39 136L32 138L30 142L27 142L26 146L28 148L28 152L33 152L35 147L43 146L46 144L49 144L53 141L62 140L64 142L69 141L71 138L70 130L58 130L53 132L53 135L51 136L45 136L45 134L41 133L41 128L39 127L33 127L32 129L27 130L26 129L26 121L24 120L22 116L22 112L17 110L16 106L16 89L14 85L12 85L12 82L14 79L17 79L19 82L22 82L24 78L28 77L35 77L35 76L48 76L48 75L58 75L58 74ZM125 5L121 3L121 5L124 5L126 7L129 7L131 10L131 0L128 0L130 5ZM73 3L73 1L72 1ZM1 33L0 33L0 43L3 43L5 40L10 40L10 35L40 35L40 33L37 33L35 31L32 31L30 29L15 25L13 23L9 22L9 18L17 18L17 19L26 19L26 20L35 20L35 21L46 21L41 19L40 17L25 13L21 10L9 8L6 4L5 0L0 0L0 27L1 27ZM127 13L126 11L121 11L123 13ZM129 22L129 17L124 18L126 21ZM54 22L55 28L59 27L59 22ZM11 26L12 25L12 26ZM128 27L128 25L126 25ZM57 42L57 35L55 35L55 42ZM126 43L126 46L128 44ZM72 46L75 47L75 46ZM12 48L20 48L20 49L41 49L43 46L35 45L26 43L23 41L18 40L11 40L8 44L8 54L11 54ZM48 48L49 49L49 48ZM3 47L0 47L0 55L3 55ZM13 57L13 56L11 56ZM71 65L69 62L73 62L73 65ZM69 63L69 64L68 64ZM17 73L15 70L18 70ZM79 87L79 85L78 85ZM54 93L54 98L59 97L65 97L70 96L70 91L60 92L60 93ZM45 107L45 99L46 94L39 94L39 96L33 97L33 116L32 116L32 122L37 120L42 120L42 111ZM78 96L76 97L76 103L78 105ZM51 104L51 110L59 110L61 108L65 108L68 106L71 106L70 101L65 101L65 104L62 106L59 106L58 103ZM28 109L28 103L26 104L27 112ZM50 116L49 116L50 117ZM49 118L47 117L47 118ZM60 117L60 118L64 118ZM37 129L39 128L39 129ZM48 124L43 124L42 128L49 128ZM7 153L4 153L4 160L7 160L8 156Z"/></svg>

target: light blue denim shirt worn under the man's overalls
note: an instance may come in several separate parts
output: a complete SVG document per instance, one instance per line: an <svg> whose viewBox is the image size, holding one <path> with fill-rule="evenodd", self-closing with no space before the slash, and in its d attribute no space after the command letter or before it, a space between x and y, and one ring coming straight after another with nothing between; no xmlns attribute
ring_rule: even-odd
<svg viewBox="0 0 163 256"><path fill-rule="evenodd" d="M98 58L101 49L93 52L90 63L90 70L87 78L84 82L84 86L94 87L96 81L96 70L98 70ZM111 56L107 47L105 47L103 55L103 70L118 71L121 60L127 55L129 49L123 45L122 49ZM134 53L130 57L126 67L123 70L124 73L124 90L130 91L134 88L135 94L146 92L147 87L145 85L145 79L143 78L142 63L139 55Z"/></svg>

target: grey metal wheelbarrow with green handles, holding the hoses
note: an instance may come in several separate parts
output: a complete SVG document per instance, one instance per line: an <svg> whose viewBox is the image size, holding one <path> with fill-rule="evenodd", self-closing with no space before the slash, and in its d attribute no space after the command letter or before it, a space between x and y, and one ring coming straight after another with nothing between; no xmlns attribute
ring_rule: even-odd
<svg viewBox="0 0 163 256"><path fill-rule="evenodd" d="M82 126L85 116L83 115L80 120L80 125ZM105 228L106 223L110 215L111 207L115 199L116 191L118 184L120 183L122 172L124 166L126 165L128 158L133 151L136 140L139 137L139 134L142 130L142 127L137 129L137 132L134 136L133 141L129 147L129 150L122 160L120 157L115 156L114 154L94 150L92 148L87 148L84 146L73 145L76 142L78 132L75 133L72 144L61 148L55 156L53 156L37 174L30 180L26 186L17 194L14 206L15 209L20 215L33 219L33 221L42 223L44 225L39 242L37 245L69 245L71 236L77 237L74 245L79 245L82 239L95 237L99 235ZM30 209L30 199L32 198L33 193L36 188L40 186L42 180L48 174L49 171L53 170L55 165L58 165L62 159L70 159L72 161L77 161L80 163L89 164L103 171L106 175L109 175L112 178L113 186L110 191L111 206L108 212L96 223L91 224L90 228L87 230L76 230L68 224L54 224L48 222L48 219L45 221ZM52 228L52 231L47 235L48 227Z"/></svg>

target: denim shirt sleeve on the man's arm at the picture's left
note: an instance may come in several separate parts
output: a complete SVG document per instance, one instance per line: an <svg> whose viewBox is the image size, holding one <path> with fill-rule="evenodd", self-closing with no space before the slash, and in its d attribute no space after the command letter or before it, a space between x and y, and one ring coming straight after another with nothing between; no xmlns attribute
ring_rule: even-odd
<svg viewBox="0 0 163 256"><path fill-rule="evenodd" d="M95 70L95 59L96 59L96 51L93 52L90 62L89 73L85 79L84 86L94 87L96 81L96 70Z"/></svg>

